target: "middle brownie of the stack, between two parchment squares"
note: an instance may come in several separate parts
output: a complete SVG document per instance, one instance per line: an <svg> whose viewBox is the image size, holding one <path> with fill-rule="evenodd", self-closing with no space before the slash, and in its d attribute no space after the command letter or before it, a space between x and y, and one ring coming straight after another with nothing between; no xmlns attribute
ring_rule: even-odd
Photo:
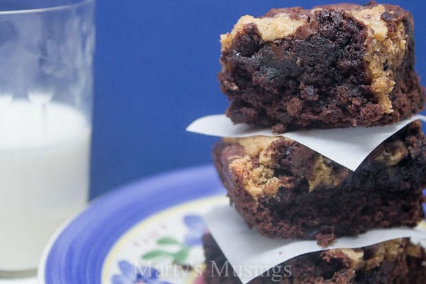
<svg viewBox="0 0 426 284"><path fill-rule="evenodd" d="M317 239L424 219L426 140L418 120L374 149L357 168L282 136L224 138L214 163L236 210L271 238Z"/></svg>

